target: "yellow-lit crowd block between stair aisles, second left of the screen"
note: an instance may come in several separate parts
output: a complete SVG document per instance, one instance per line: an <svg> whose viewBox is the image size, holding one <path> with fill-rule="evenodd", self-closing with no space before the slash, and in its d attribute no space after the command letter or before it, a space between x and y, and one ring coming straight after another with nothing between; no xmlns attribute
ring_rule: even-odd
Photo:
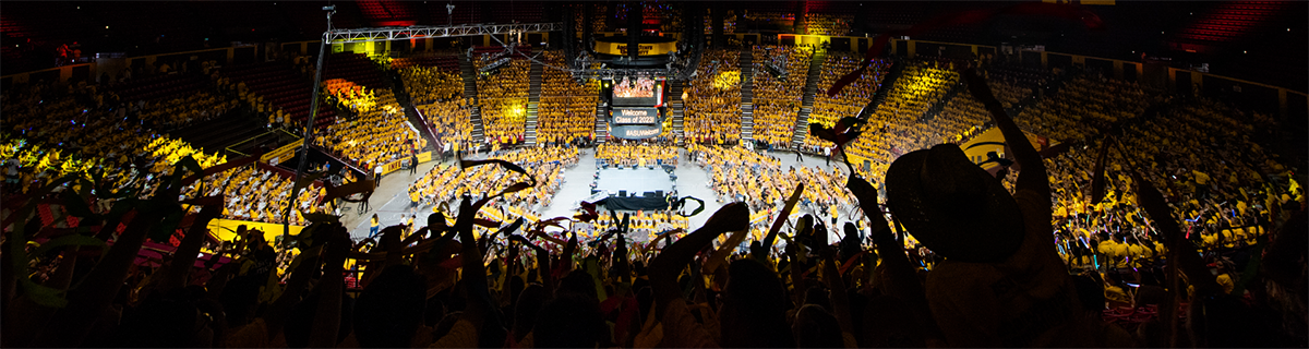
<svg viewBox="0 0 1309 349"><path fill-rule="evenodd" d="M486 67L478 60L475 67ZM478 76L478 106L482 111L482 135L491 144L520 144L526 132L528 73L531 63L511 60L497 72Z"/></svg>

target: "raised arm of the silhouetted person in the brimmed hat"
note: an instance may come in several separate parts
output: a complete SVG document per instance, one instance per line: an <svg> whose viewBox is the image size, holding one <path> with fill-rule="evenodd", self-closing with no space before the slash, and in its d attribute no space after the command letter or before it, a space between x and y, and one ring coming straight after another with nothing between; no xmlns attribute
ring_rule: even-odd
<svg viewBox="0 0 1309 349"><path fill-rule="evenodd" d="M1037 148L1031 146L1028 141L1028 136L1018 129L1018 124L1013 123L1013 118L1004 111L1004 105L995 99L991 94L991 88L986 85L986 78L978 76L977 69L963 71L963 78L969 81L969 91L973 93L973 98L977 98L986 106L986 110L991 112L991 120L995 122L996 128L1000 128L1000 133L1004 135L1005 144L1009 152L1013 153L1013 158L1018 162L1018 182L1014 183L1018 190L1030 190L1038 192L1046 200L1050 199L1050 179L1046 178L1046 165L1041 162L1041 154L1037 153Z"/></svg>

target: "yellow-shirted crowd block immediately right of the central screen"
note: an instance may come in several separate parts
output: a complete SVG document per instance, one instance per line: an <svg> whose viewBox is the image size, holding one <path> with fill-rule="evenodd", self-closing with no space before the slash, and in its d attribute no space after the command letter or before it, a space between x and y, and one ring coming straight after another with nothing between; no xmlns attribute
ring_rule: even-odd
<svg viewBox="0 0 1309 349"><path fill-rule="evenodd" d="M683 90L687 142L736 144L741 140L741 55L707 50L696 78Z"/></svg>

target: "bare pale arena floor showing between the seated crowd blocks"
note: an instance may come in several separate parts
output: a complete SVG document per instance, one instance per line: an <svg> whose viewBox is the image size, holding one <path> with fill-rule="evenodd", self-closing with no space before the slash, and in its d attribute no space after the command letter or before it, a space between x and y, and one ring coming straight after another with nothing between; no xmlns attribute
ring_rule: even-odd
<svg viewBox="0 0 1309 349"><path fill-rule="evenodd" d="M677 190L679 196L694 196L704 200L704 212L691 217L691 227L704 225L704 221L709 218L723 203L719 203L717 195L709 187L709 175L704 169L700 169L695 163L689 163L685 161L686 149L679 149L682 165L677 166L673 173L677 175ZM796 153L793 152L770 152L768 154L775 156L781 159L781 166L816 166L822 169L830 169L830 166L838 166L833 162L830 166L825 163L821 157L804 156L804 162L796 159ZM474 158L484 158L484 156L476 156ZM435 167L440 161L432 161L427 163L420 163L415 174L410 174L407 170L401 170L386 175L382 178L381 186L373 192L369 200L370 209L359 213L359 204L348 204L342 209L342 222L346 226L353 226L350 235L353 239L363 239L368 237L369 233L369 217L374 213L382 226L403 224L410 214L419 214L419 220L425 220L425 213L431 212L429 205L420 207L418 209L410 209L410 199L407 196L407 190L410 184L423 176L428 170ZM662 171L658 171L662 174ZM555 195L551 204L541 212L541 217L562 217L572 216L577 204L590 196L590 182L592 176L596 174L596 152L594 149L583 149L581 156L577 161L577 166L564 171L564 182L560 184L559 192ZM632 187L640 188L664 188L668 187L668 182L664 176L641 176L644 180L651 180L654 183L634 183ZM631 179L628 179L631 180ZM797 213L812 213L806 209L797 208Z"/></svg>

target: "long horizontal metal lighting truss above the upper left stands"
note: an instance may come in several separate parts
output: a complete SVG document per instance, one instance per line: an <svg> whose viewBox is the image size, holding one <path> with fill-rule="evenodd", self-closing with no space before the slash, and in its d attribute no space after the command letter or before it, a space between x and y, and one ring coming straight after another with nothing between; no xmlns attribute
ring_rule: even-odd
<svg viewBox="0 0 1309 349"><path fill-rule="evenodd" d="M393 26L393 27L360 27L360 29L335 29L325 33L327 42L330 43L350 43L350 42L384 42L384 41L407 41L407 39L420 39L420 38L448 38L448 37L473 37L473 35L496 35L496 34L512 34L512 33L541 33L541 31L563 31L563 22L550 22L550 24L475 24L475 25L442 25L442 26Z"/></svg>

